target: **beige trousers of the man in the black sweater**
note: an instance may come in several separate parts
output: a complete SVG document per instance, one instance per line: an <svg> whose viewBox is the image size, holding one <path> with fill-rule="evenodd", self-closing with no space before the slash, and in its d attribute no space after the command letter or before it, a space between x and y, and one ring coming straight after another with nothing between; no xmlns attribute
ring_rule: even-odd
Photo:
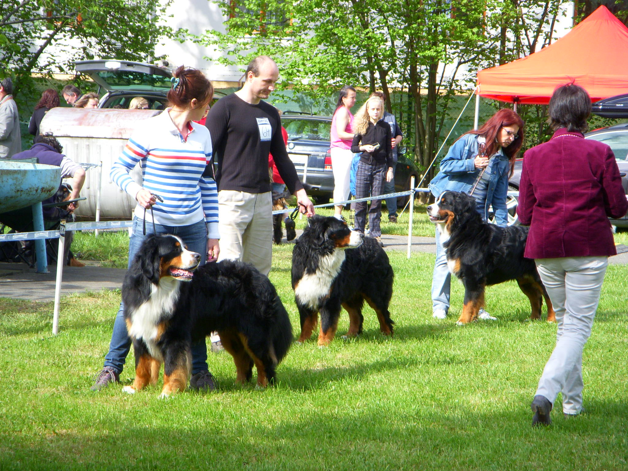
<svg viewBox="0 0 628 471"><path fill-rule="evenodd" d="M251 263L268 276L273 263L273 202L271 192L218 192L221 260Z"/></svg>

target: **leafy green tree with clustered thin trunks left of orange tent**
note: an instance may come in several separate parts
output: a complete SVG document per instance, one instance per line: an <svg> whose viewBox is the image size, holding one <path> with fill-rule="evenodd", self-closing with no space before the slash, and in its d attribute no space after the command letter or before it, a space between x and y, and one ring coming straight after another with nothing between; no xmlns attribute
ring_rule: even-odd
<svg viewBox="0 0 628 471"><path fill-rule="evenodd" d="M226 33L195 40L218 46L227 64L267 54L284 86L315 98L341 85L394 98L404 143L427 168L443 126L475 70L526 55L551 41L564 0L212 0ZM391 92L396 92L392 94ZM394 96L393 96L394 95ZM433 169L427 178L431 178Z"/></svg>

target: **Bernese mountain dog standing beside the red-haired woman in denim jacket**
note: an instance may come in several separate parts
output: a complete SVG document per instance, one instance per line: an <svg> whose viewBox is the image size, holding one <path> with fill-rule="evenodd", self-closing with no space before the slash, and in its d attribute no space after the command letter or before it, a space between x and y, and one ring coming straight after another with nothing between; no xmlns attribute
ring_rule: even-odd
<svg viewBox="0 0 628 471"><path fill-rule="evenodd" d="M427 212L440 232L449 271L465 287L459 325L477 319L478 311L484 307L486 286L511 279L516 279L521 291L528 296L531 318L541 318L545 298L547 320L556 321L534 260L523 256L528 227L499 227L485 222L475 209L475 199L466 193L443 192L427 207Z"/></svg>

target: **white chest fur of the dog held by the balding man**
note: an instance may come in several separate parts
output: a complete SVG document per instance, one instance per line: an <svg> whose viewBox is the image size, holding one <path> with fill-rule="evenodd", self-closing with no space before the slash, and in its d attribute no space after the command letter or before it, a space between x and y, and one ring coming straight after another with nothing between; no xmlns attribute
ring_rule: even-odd
<svg viewBox="0 0 628 471"><path fill-rule="evenodd" d="M305 273L296 286L297 300L312 309L318 309L320 299L329 295L333 280L340 273L344 261L345 251L339 249L321 257L316 273Z"/></svg>

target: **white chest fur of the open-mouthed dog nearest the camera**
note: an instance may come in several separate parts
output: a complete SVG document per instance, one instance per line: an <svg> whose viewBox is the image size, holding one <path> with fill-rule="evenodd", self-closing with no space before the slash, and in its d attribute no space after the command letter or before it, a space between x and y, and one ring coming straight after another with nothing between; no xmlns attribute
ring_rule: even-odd
<svg viewBox="0 0 628 471"><path fill-rule="evenodd" d="M144 340L151 357L161 360L160 349L156 340L159 321L164 313L171 313L179 298L180 281L173 278L161 278L159 286L152 285L151 295L131 314L129 336Z"/></svg>

